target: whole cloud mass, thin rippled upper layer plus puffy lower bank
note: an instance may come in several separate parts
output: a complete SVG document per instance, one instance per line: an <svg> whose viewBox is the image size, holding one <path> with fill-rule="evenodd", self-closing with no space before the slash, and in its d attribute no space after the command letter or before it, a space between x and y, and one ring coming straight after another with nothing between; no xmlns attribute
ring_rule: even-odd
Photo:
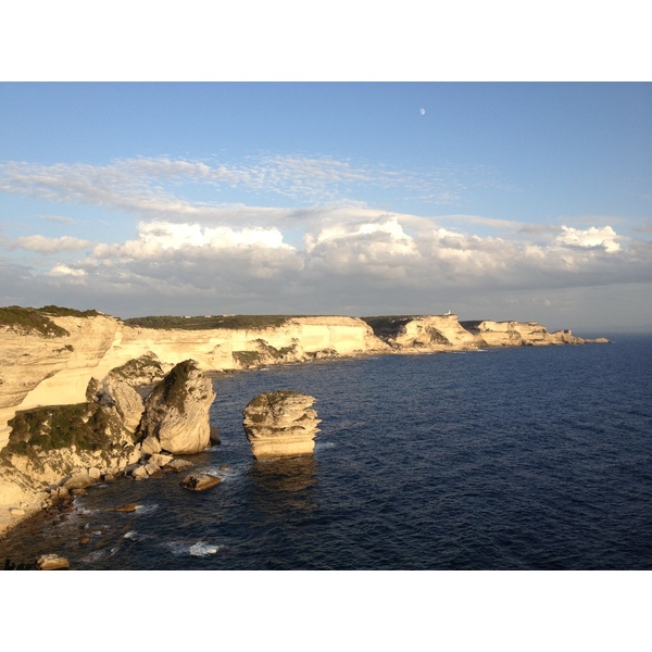
<svg viewBox="0 0 652 652"><path fill-rule="evenodd" d="M3 302L57 298L123 316L418 313L443 309L442 302L480 305L491 296L505 301L523 292L554 297L573 288L652 281L652 244L612 225L423 216L351 199L371 186L439 199L459 191L444 174L426 179L414 171L333 159L276 156L239 165L167 158L104 166L4 163L0 191L102 206L137 222L131 234L116 233L112 242L41 234L5 242L8 255L25 251L40 258L38 266L29 266L5 256ZM205 193L193 198L196 187L214 191L215 201ZM220 203L225 188L244 188L253 192L250 199L273 193L291 205ZM74 228L65 220L58 224Z"/></svg>

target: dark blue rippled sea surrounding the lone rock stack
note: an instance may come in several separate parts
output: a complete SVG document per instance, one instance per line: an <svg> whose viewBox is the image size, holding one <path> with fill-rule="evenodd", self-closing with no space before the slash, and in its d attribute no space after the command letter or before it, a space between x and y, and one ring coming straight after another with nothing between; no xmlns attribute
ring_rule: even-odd
<svg viewBox="0 0 652 652"><path fill-rule="evenodd" d="M384 355L224 374L222 444L189 472L89 489L0 561L73 569L651 569L652 338ZM255 396L316 397L314 455L256 462ZM136 503L133 513L109 510ZM88 537L87 543L80 543ZM0 566L1 567L1 566Z"/></svg>

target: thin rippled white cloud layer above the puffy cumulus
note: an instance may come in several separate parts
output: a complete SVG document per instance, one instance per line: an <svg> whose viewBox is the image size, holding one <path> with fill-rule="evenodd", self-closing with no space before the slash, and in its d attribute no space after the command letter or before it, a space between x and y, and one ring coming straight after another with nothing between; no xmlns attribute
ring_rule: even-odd
<svg viewBox="0 0 652 652"><path fill-rule="evenodd" d="M392 170L328 156L262 156L239 163L159 156L106 165L10 161L0 164L0 191L101 205L150 220L210 221L221 215L221 192L233 188L251 197L268 193L309 205L350 204L351 196L356 196L355 203L361 197L388 189L392 197L450 204L460 200L464 188L460 174L448 168ZM181 188L197 185L209 189L215 201L193 203L179 196Z"/></svg>

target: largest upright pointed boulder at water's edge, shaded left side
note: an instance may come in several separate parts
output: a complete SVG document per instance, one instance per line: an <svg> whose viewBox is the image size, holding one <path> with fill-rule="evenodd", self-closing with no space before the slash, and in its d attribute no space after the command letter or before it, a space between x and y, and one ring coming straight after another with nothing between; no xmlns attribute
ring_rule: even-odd
<svg viewBox="0 0 652 652"><path fill-rule="evenodd" d="M214 399L211 380L195 361L186 360L146 399L139 436L156 438L168 453L198 453L211 442L209 410Z"/></svg>

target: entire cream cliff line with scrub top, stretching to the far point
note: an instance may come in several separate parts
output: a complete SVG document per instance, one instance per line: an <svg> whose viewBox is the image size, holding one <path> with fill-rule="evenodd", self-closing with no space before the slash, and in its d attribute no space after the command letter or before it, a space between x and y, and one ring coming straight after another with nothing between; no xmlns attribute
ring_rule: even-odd
<svg viewBox="0 0 652 652"><path fill-rule="evenodd" d="M460 323L452 314L150 317L129 325L95 311L0 311L7 313L0 312L0 449L16 411L80 403L91 378L101 383L111 369L143 356L165 372L188 359L203 372L221 372L340 356L585 341L535 323Z"/></svg>

